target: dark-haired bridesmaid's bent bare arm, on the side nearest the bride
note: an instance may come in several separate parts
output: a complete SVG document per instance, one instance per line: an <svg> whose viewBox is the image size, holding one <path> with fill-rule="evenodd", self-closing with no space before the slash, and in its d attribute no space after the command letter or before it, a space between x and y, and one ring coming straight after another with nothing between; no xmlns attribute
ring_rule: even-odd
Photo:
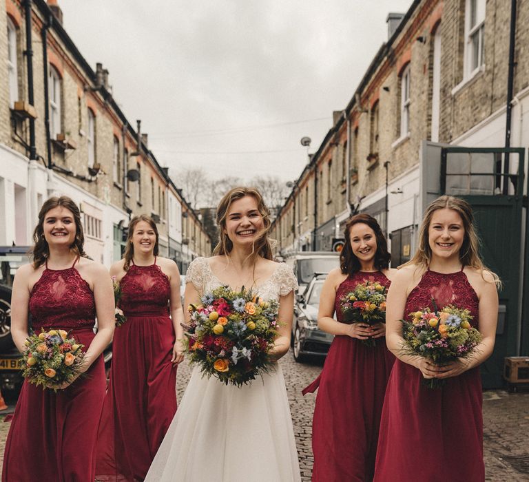
<svg viewBox="0 0 529 482"><path fill-rule="evenodd" d="M368 339L373 333L373 328L367 323L340 323L333 319L334 304L336 300L336 287L342 280L340 269L333 269L327 275L320 294L320 307L318 309L318 328L331 333L331 335L345 335L351 338Z"/></svg>

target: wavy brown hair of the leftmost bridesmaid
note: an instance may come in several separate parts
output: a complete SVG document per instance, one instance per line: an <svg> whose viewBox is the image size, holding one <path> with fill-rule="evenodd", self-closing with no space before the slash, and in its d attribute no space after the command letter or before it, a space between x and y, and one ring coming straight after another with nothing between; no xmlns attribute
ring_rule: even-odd
<svg viewBox="0 0 529 482"><path fill-rule="evenodd" d="M48 211L56 207L68 209L68 211L74 216L75 239L70 246L70 250L78 256L87 258L84 249L85 234L83 233L83 224L81 224L81 211L79 211L79 207L77 207L75 202L71 198L68 198L68 196L54 196L45 201L42 205L41 211L39 211L39 222L33 231L34 245L32 249L30 249L30 256L33 260L32 264L34 269L42 266L46 260L50 258L50 247L48 246L48 241L44 238L44 218Z"/></svg>

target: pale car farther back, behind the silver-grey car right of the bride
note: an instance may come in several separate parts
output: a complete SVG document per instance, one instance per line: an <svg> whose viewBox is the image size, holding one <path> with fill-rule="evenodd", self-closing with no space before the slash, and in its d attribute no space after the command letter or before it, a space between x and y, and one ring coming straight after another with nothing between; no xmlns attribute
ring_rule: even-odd
<svg viewBox="0 0 529 482"><path fill-rule="evenodd" d="M285 256L284 261L292 266L302 295L315 274L329 273L340 266L340 253L333 251L299 251Z"/></svg>

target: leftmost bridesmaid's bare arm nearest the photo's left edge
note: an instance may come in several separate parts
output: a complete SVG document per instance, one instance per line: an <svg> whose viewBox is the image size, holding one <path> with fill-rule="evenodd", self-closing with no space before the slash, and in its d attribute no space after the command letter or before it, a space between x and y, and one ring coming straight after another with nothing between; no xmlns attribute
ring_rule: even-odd
<svg viewBox="0 0 529 482"><path fill-rule="evenodd" d="M28 309L30 303L29 280L33 268L25 264L14 275L11 293L11 336L19 351L25 351L25 339L28 338Z"/></svg>

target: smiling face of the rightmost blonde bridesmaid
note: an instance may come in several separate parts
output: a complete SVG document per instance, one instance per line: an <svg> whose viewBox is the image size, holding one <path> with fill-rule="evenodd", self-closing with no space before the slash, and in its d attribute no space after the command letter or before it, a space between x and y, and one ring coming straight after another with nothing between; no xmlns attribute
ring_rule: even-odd
<svg viewBox="0 0 529 482"><path fill-rule="evenodd" d="M459 250L465 239L463 220L453 209L434 211L428 227L428 244L433 256L448 259L459 258Z"/></svg>

